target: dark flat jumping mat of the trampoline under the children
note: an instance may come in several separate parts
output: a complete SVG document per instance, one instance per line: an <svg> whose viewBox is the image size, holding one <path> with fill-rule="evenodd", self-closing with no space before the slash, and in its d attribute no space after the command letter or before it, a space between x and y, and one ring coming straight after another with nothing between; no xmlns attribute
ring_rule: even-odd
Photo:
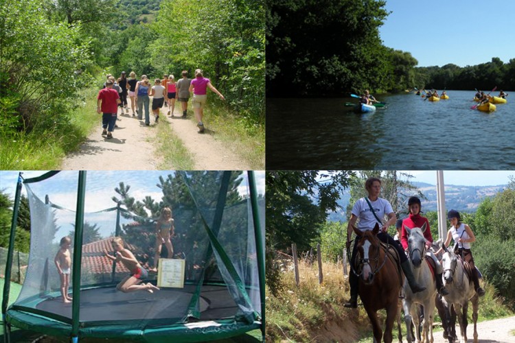
<svg viewBox="0 0 515 343"><path fill-rule="evenodd" d="M194 290L194 285L186 285L182 289L161 288L154 293L124 293L115 287L83 289L80 292L80 321L175 318L179 322L187 314ZM228 318L238 311L238 306L225 286L204 285L199 304L202 320ZM47 298L38 303L36 308L71 318L71 303L62 303L60 296Z"/></svg>

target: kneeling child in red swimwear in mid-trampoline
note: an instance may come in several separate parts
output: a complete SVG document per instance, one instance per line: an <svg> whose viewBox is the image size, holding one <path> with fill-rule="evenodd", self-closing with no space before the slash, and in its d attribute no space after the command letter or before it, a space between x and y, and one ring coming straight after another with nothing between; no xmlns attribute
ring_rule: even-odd
<svg viewBox="0 0 515 343"><path fill-rule="evenodd" d="M115 256L110 255L107 250L104 249L106 257L112 261L122 262L122 264L130 270L130 275L120 281L116 286L116 289L125 293L143 290L153 293L155 289L159 290L159 287L152 285L152 283L141 283L141 281L148 276L148 271L141 267L130 250L124 248L124 240L121 237L113 238L113 240L111 240L111 245L115 250ZM139 283L141 283L141 285Z"/></svg>

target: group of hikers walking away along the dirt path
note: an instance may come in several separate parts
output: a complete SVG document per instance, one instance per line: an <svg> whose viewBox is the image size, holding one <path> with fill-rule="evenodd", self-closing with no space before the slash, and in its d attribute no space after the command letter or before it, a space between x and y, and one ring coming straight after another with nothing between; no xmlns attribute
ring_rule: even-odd
<svg viewBox="0 0 515 343"><path fill-rule="evenodd" d="M147 75L141 75L137 80L136 73L131 71L129 78L126 72L122 71L119 78L111 74L107 74L107 80L104 87L99 91L97 97L97 112L102 113L102 136L106 139L113 138L113 130L117 127L117 112L121 108L122 114L124 110L129 113L128 97L130 98L130 108L133 111L133 117L137 116L138 120L143 120L145 113L145 125L150 126L150 97L152 97L152 114L155 123L159 122L159 112L163 106L168 107L168 116L174 116L175 102L181 103L183 111L182 117L187 118L187 103L192 96L192 107L197 121L198 132L204 132L204 107L207 99L207 88L216 93L220 99L225 97L211 84L209 78L205 78L201 69L196 69L195 78L187 77L187 71L182 71L182 78L175 80L174 75L163 75L163 78L156 78L153 86L150 86L150 80Z"/></svg>

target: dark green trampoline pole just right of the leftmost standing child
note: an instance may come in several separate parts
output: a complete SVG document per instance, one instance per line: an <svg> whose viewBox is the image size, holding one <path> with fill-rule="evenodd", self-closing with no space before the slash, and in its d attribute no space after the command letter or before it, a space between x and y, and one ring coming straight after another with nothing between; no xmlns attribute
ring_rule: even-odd
<svg viewBox="0 0 515 343"><path fill-rule="evenodd" d="M84 197L86 194L86 171L79 171L77 187L77 210L75 239L73 243L73 300L71 301L71 340L78 342L80 315L80 267L82 261L82 229L84 228Z"/></svg>

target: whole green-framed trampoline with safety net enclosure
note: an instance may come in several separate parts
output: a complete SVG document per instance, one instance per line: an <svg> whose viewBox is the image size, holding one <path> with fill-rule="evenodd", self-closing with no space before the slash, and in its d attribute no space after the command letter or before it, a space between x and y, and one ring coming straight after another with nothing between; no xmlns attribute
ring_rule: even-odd
<svg viewBox="0 0 515 343"><path fill-rule="evenodd" d="M184 191L181 204L163 190L162 201L148 215L144 211L133 212L136 207L131 205L132 200L118 201L117 206L100 211L84 211L89 198L95 198L93 194L108 185L100 178L88 189L86 171L74 173L76 182L70 182L71 173L49 172L38 178L19 179L13 226L23 183L30 202L32 237L26 279L19 298L8 308L5 294L9 294L9 283L4 286L2 312L7 338L14 326L67 336L73 342L86 337L126 338L133 342L205 342L253 329L260 329L264 340L260 224L264 204L255 194L253 172L245 175L237 171L175 171L166 180L161 178L160 188ZM95 180L99 179L97 173L102 172L88 171ZM249 186L248 194L239 187L242 180ZM32 185L39 182L48 183L41 189ZM77 187L76 209L52 202L52 198L60 199L60 193L67 187ZM130 208L124 208L124 204L130 204ZM116 285L128 275L128 270L122 263L111 262L102 251L112 237L122 237L126 248L148 268L155 262L155 213L163 206L172 207L175 222L174 256L167 258L185 261L181 275L174 274L183 278L183 285L161 287L153 293L122 292ZM74 226L65 224L71 218L75 219ZM53 257L58 249L56 241L69 227L73 228L69 232L73 246L68 294L73 300L64 303ZM92 230L96 233L93 239L89 237ZM11 241L14 243L14 229ZM161 258L167 253L163 251ZM12 246L6 279L11 264ZM156 285L157 279L159 272L150 272L143 282Z"/></svg>

